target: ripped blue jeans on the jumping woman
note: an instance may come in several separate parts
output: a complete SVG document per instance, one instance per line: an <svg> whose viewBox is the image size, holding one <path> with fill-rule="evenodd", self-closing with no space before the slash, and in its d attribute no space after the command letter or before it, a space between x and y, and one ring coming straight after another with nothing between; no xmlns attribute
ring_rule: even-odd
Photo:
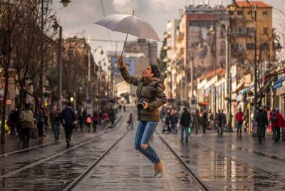
<svg viewBox="0 0 285 191"><path fill-rule="evenodd" d="M150 146L150 138L152 138L158 121L140 121L138 123L138 129L135 133L135 149L140 151L142 155L145 155L153 164L160 162L155 150ZM141 145L147 144L146 149L141 148Z"/></svg>

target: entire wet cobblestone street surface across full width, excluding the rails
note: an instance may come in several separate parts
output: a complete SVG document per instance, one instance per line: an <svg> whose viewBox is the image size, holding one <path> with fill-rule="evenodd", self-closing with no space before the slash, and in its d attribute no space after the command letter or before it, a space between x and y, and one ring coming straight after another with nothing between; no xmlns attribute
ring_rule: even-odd
<svg viewBox="0 0 285 191"><path fill-rule="evenodd" d="M62 141L1 157L0 190L63 190L126 132L127 120L125 113L115 129L75 137L71 148L93 140L74 150L67 149ZM157 133L209 190L285 190L285 143L274 144L271 135L260 144L250 135L217 136L212 130L192 134L185 143L180 142L180 134L160 133L161 125ZM153 177L152 163L133 148L134 136L135 130L129 130L76 190L199 190L157 134L151 144L165 160L165 172L162 178ZM54 157L38 162L50 156ZM14 171L33 162L38 164ZM4 177L9 172L14 173Z"/></svg>

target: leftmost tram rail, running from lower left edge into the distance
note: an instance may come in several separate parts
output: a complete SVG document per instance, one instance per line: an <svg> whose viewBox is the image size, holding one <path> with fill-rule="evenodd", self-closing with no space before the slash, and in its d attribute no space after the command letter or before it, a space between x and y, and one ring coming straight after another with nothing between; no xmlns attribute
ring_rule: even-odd
<svg viewBox="0 0 285 191"><path fill-rule="evenodd" d="M120 121L121 121L121 118L118 118L117 124L118 124ZM123 124L123 122L124 122L124 120L121 121L121 123L120 123L118 126L120 126L121 124ZM118 128L117 128L116 130L118 130ZM106 132L107 132L107 133L106 133ZM18 168L17 170L13 170L13 171L11 171L11 172L9 172L9 173L6 173L5 175L1 175L1 176L0 176L0 180L5 180L6 178L9 178L9 177L11 177L11 176L13 176L13 175L18 174L19 172L22 172L22 171L24 171L24 170L28 170L28 169L30 169L30 168L32 168L32 167L36 167L37 165L40 165L40 164L43 163L43 162L47 162L48 160L52 160L52 159L54 159L54 158L57 158L57 157L59 157L59 156L65 154L65 153L68 153L68 152L71 152L71 151L73 151L73 150L76 150L77 148L82 148L84 145L87 145L88 143L92 143L92 142L94 142L95 140L98 140L98 139L100 139L100 138L103 138L103 137L105 137L105 136L108 136L111 132L114 132L114 131L112 131L112 130L105 131L105 134L103 134L103 135L102 135L102 134L101 134L101 135L99 135L99 134L98 134L98 135L95 135L94 138L91 138L91 139L89 139L89 140L86 140L86 141L84 141L83 143L79 143L78 145L72 146L71 148L68 148L68 149L63 150L63 151L58 152L58 153L55 153L55 154L50 155L50 156L48 156L48 157L46 157L46 158L43 158L43 159L41 159L41 160L37 160L36 162L32 162L32 163L29 164L29 165L26 165L26 166L24 166L24 167L20 167L20 168Z"/></svg>

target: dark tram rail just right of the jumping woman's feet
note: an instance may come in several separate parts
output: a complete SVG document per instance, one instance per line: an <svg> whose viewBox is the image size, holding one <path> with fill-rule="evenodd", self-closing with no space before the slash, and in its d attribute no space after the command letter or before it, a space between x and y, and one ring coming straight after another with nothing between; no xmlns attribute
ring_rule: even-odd
<svg viewBox="0 0 285 191"><path fill-rule="evenodd" d="M155 133L157 133L157 131L155 131ZM177 158L177 160L180 162L180 164L182 165L182 167L186 170L186 172L188 173L188 175L190 175L192 177L192 180L195 182L195 184L197 185L197 187L199 187L201 190L204 191L208 191L210 190L209 187L207 187L207 185L199 178L199 176L196 174L196 172L194 172L194 170L192 170L183 160L182 158L180 158L179 155L177 155L177 153L175 153L175 151L170 147L170 145L160 136L159 133L157 133L158 137L162 140L163 143L165 143L165 145L167 145L167 148L170 149L171 153L173 155L175 155L175 158Z"/></svg>

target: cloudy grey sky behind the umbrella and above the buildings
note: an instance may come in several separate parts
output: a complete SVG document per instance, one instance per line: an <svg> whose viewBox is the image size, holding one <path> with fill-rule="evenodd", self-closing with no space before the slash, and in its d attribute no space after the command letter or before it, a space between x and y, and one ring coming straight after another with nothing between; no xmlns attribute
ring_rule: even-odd
<svg viewBox="0 0 285 191"><path fill-rule="evenodd" d="M102 19L105 15L110 14L131 14L135 10L135 16L148 21L162 39L166 31L167 21L179 18L179 9L184 9L192 0L71 0L68 7L63 8L60 0L53 1L53 12L58 17L58 23L63 26L63 38L78 36L91 39L104 39L111 41L124 41L125 34L113 32L105 29L103 26L95 25L95 21ZM206 1L206 0L204 0ZM211 6L219 4L221 0L208 0ZM285 0L263 0L276 9L284 9ZM201 4L202 0L195 0L195 5ZM222 4L227 5L231 0L222 0ZM273 21L274 28L279 28L280 14L274 10ZM285 17L283 18L285 19ZM285 21L285 20L284 20ZM136 41L137 37L129 36L128 40ZM159 48L162 43L159 42ZM95 61L105 58L100 55L100 48L103 51L115 51L115 43L91 41L90 46L95 52ZM118 51L122 51L123 43L118 43ZM157 50L158 52L160 51Z"/></svg>

